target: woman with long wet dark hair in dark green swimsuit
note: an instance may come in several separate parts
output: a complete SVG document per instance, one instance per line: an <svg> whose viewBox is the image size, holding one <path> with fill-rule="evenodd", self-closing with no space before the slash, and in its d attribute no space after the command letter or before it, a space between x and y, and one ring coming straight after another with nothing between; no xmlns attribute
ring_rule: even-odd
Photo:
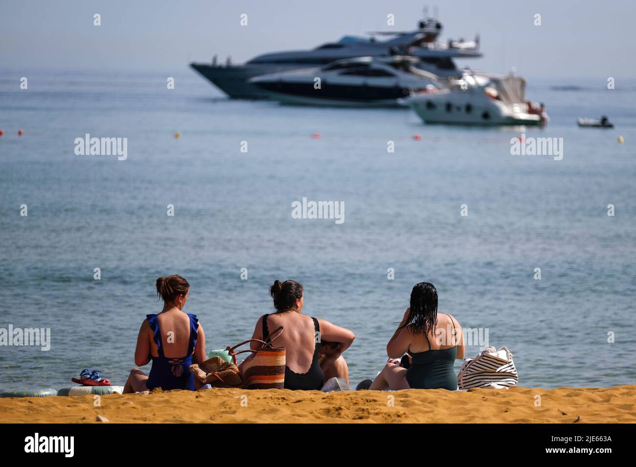
<svg viewBox="0 0 636 467"><path fill-rule="evenodd" d="M429 282L415 284L411 306L387 344L390 358L409 356L408 369L389 360L369 389L457 389L453 370L464 358L464 332L450 315L438 313L438 295Z"/></svg>

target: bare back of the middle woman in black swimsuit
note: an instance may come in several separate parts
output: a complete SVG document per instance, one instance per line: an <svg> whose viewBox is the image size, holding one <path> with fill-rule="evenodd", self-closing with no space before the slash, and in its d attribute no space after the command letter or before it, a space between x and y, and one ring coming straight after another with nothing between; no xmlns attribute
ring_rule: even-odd
<svg viewBox="0 0 636 467"><path fill-rule="evenodd" d="M283 333L273 341L274 347L286 348L286 365L296 373L306 373L314 358L314 321L300 313L273 313L267 316L267 328L273 332L279 326ZM266 336L263 336L266 337Z"/></svg>

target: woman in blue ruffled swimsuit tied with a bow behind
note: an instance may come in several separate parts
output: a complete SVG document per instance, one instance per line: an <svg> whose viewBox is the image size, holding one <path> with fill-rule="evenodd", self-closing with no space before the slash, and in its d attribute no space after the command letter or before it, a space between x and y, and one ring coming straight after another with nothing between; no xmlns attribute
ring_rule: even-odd
<svg viewBox="0 0 636 467"><path fill-rule="evenodd" d="M140 369L130 372L123 393L162 388L194 391L190 365L205 360L205 335L197 315L181 311L188 301L190 284L176 274L156 281L157 294L163 299L158 315L146 315L141 323L135 349L135 365L153 366L149 376Z"/></svg>

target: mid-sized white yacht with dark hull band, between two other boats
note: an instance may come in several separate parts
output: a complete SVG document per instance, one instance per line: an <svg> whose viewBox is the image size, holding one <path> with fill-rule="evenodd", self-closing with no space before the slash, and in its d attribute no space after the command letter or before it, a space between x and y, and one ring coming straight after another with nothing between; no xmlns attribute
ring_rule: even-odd
<svg viewBox="0 0 636 467"><path fill-rule="evenodd" d="M415 57L357 57L321 68L257 76L249 80L283 104L397 107L410 93L439 88L438 76Z"/></svg>

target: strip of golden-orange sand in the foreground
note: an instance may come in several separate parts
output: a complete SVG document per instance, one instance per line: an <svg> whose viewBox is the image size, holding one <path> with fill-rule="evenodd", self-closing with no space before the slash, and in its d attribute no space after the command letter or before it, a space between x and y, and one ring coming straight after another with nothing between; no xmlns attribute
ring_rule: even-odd
<svg viewBox="0 0 636 467"><path fill-rule="evenodd" d="M95 423L99 415L109 423L636 423L636 386L328 394L214 388L113 394L99 402L1 398L0 422Z"/></svg>

